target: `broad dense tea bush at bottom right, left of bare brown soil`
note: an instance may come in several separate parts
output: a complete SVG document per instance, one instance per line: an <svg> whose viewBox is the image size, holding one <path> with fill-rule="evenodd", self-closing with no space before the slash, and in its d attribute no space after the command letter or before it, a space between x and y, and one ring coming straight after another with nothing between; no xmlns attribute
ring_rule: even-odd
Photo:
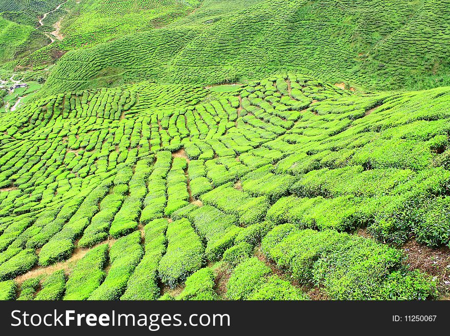
<svg viewBox="0 0 450 336"><path fill-rule="evenodd" d="M332 299L426 299L436 292L426 276L406 270L401 251L372 239L285 224L269 232L261 247L298 281L324 286Z"/></svg>

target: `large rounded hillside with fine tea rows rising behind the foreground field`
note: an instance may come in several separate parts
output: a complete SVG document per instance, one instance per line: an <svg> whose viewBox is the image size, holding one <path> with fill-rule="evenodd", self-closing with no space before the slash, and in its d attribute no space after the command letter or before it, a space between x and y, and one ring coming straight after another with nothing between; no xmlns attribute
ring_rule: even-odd
<svg viewBox="0 0 450 336"><path fill-rule="evenodd" d="M449 5L448 1L207 0L156 35L133 34L65 55L46 92L95 87L98 81L92 79L100 70L114 74L126 68L132 77L125 76L125 81L160 83L213 84L302 72L366 88L445 85L450 83ZM161 43L177 43L171 36L179 29L192 32L183 48L161 59L148 58L148 50L158 51ZM105 50L114 50L120 65ZM79 68L85 69L83 74ZM75 77L80 83L73 82ZM107 81L102 85L109 86Z"/></svg>

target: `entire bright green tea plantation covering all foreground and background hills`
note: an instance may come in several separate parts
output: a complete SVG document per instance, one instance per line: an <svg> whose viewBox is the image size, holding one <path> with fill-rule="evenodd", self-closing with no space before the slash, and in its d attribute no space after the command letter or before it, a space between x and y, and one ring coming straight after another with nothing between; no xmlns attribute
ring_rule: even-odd
<svg viewBox="0 0 450 336"><path fill-rule="evenodd" d="M0 0L0 299L447 298L449 14Z"/></svg>

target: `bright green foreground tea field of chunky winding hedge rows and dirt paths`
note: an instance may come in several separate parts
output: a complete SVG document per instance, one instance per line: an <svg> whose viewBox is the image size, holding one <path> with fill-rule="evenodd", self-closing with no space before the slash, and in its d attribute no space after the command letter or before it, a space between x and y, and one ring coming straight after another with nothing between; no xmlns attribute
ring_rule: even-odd
<svg viewBox="0 0 450 336"><path fill-rule="evenodd" d="M5 112L0 297L436 298L401 245L450 242L449 98L289 74Z"/></svg>

